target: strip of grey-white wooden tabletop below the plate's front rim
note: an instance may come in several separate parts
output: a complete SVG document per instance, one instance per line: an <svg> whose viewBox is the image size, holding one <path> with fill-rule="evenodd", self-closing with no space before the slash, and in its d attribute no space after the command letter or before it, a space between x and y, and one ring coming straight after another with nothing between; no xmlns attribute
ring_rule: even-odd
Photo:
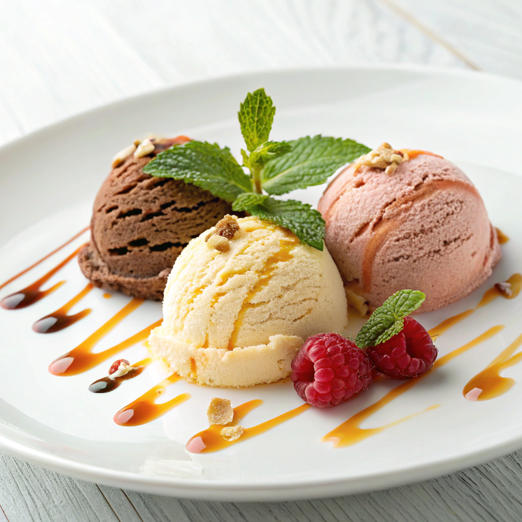
<svg viewBox="0 0 522 522"><path fill-rule="evenodd" d="M435 480L299 502L196 502L74 480L0 454L9 522L519 522L522 452ZM2 520L2 511L0 511Z"/></svg>

